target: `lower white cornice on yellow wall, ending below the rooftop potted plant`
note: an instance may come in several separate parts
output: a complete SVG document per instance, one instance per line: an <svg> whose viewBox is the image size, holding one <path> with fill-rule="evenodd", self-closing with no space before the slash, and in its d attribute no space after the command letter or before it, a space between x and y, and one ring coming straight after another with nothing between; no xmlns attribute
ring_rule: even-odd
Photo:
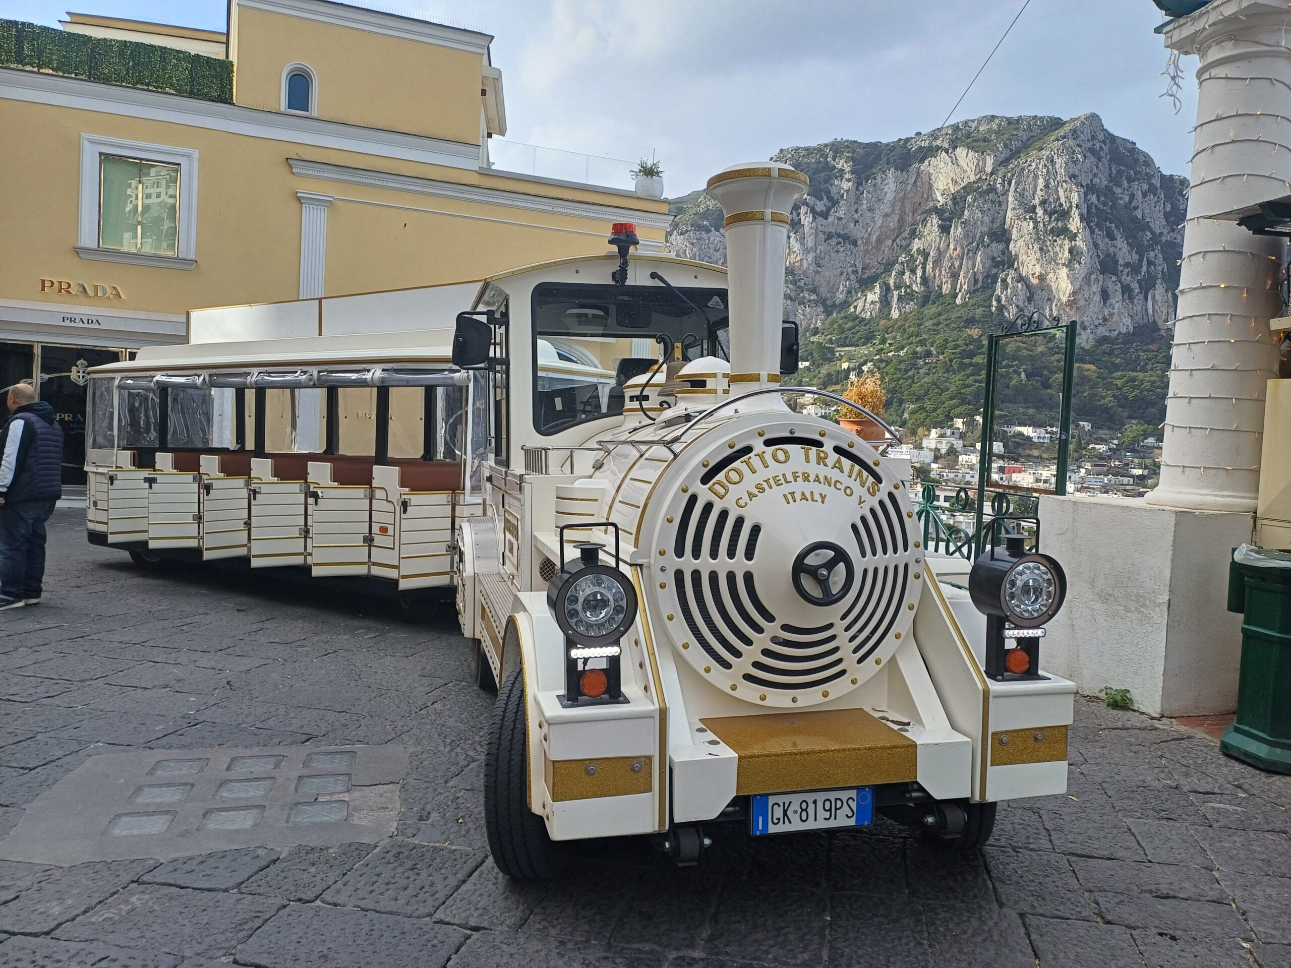
<svg viewBox="0 0 1291 968"><path fill-rule="evenodd" d="M372 188L390 188L392 191L405 191L414 195L432 195L440 199L457 199L484 205L503 205L506 208L520 208L531 212L546 212L554 216L572 216L574 218L591 218L598 222L635 222L646 228L667 228L673 217L666 213L642 212L634 208L620 208L617 205L600 205L594 201L572 201L569 199L550 199L542 195L525 195L523 192L506 191L503 188L489 188L479 185L457 185L456 182L443 182L435 178L417 178L407 174L392 174L390 172L372 172L364 168L347 168L333 165L325 161L309 161L300 157L287 159L292 165L292 173L302 178L320 178L329 182L345 182L347 185L365 185ZM593 186L582 186L586 190L596 191Z"/></svg>

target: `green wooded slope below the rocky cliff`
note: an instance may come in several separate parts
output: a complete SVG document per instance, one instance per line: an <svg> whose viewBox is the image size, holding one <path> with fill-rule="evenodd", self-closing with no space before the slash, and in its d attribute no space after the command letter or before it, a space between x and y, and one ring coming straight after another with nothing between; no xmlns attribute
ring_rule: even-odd
<svg viewBox="0 0 1291 968"><path fill-rule="evenodd" d="M847 382L843 361L852 369L873 363L883 377L892 421L908 429L944 426L951 417L981 412L986 333L1001 321L985 292L958 305L954 297L933 299L895 319L839 312L803 341L803 359L812 365L800 378L837 390ZM998 419L1056 423L1061 337L1010 339L1002 346ZM1130 422L1155 427L1164 419L1167 334L1140 327L1079 347L1075 363L1073 423L1119 430Z"/></svg>

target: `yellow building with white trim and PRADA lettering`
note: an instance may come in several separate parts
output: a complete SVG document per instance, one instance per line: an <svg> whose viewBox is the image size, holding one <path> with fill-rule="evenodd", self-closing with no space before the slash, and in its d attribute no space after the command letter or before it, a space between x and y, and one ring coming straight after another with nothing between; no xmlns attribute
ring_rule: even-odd
<svg viewBox="0 0 1291 968"><path fill-rule="evenodd" d="M0 386L36 378L81 465L83 365L201 306L480 279L662 245L667 205L501 170L492 37L329 0L231 0L227 34L0 21Z"/></svg>

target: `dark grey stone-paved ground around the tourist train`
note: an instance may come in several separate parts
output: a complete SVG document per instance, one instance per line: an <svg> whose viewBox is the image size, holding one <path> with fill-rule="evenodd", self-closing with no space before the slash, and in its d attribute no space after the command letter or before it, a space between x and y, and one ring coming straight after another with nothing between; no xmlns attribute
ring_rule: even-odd
<svg viewBox="0 0 1291 968"><path fill-rule="evenodd" d="M421 627L363 599L134 570L59 510L46 603L0 616L0 836L86 758L138 749L398 743L396 836L71 867L0 862L0 965L234 963L1291 967L1291 778L1081 701L1069 796L1001 811L982 853L902 829L715 829L697 869L587 845L515 887L488 860L491 700L451 607Z"/></svg>

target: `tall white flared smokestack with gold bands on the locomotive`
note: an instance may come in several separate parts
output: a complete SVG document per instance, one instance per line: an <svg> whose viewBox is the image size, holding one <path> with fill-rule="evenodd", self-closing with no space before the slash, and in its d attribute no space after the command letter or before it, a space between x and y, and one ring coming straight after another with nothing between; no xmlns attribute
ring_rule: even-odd
<svg viewBox="0 0 1291 968"><path fill-rule="evenodd" d="M802 172L776 161L735 165L709 178L727 240L732 394L780 383L789 210L808 185Z"/></svg>

